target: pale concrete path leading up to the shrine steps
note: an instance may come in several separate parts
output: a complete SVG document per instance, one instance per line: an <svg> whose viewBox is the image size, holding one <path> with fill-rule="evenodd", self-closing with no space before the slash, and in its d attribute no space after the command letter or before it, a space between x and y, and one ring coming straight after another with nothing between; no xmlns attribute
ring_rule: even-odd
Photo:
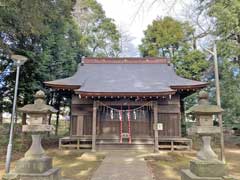
<svg viewBox="0 0 240 180"><path fill-rule="evenodd" d="M91 180L153 180L153 178L141 154L127 150L107 152Z"/></svg>

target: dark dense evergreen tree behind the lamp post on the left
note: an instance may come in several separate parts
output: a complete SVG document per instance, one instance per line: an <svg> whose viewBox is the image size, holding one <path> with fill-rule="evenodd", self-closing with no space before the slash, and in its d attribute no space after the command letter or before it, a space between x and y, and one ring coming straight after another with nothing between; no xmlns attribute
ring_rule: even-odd
<svg viewBox="0 0 240 180"><path fill-rule="evenodd" d="M84 48L72 17L73 6L71 0L9 0L1 7L3 56L8 57L8 63L10 54L29 59L20 71L18 104L32 102L36 90L44 88L43 81L66 77L76 70ZM12 69L4 88L0 89L10 102L14 84L15 69Z"/></svg>

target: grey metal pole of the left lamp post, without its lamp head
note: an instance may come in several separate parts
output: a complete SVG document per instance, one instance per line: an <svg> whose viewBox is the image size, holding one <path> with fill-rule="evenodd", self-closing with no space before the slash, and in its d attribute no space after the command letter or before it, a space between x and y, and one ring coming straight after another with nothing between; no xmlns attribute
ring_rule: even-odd
<svg viewBox="0 0 240 180"><path fill-rule="evenodd" d="M13 108L12 108L12 116L11 116L11 127L10 127L10 134L9 134L9 142L7 147L7 155L6 155L6 174L10 171L10 164L11 164L11 156L12 156L12 141L13 141L13 128L14 123L16 120L16 103L17 103L17 92L18 92L18 81L19 81L19 72L21 64L17 64L17 74L16 74L16 82L15 82L15 89L14 89L14 100L13 100Z"/></svg>

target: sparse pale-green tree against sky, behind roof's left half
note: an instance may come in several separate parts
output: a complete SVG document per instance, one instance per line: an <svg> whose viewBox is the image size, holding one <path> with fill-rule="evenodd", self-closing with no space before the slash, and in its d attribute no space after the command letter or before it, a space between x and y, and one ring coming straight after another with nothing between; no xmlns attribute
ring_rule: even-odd
<svg viewBox="0 0 240 180"><path fill-rule="evenodd" d="M116 57L120 53L120 33L96 0L77 0L73 14L83 36L81 42L91 56Z"/></svg>

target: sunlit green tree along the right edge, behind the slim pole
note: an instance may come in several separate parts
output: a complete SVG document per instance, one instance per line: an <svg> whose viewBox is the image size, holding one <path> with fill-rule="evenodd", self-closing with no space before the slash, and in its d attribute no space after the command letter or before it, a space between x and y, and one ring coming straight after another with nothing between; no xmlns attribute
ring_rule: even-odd
<svg viewBox="0 0 240 180"><path fill-rule="evenodd" d="M212 35L219 38L217 47L221 104L225 110L223 113L224 125L240 128L240 1L201 0L200 2L199 9L206 11L213 20Z"/></svg>

